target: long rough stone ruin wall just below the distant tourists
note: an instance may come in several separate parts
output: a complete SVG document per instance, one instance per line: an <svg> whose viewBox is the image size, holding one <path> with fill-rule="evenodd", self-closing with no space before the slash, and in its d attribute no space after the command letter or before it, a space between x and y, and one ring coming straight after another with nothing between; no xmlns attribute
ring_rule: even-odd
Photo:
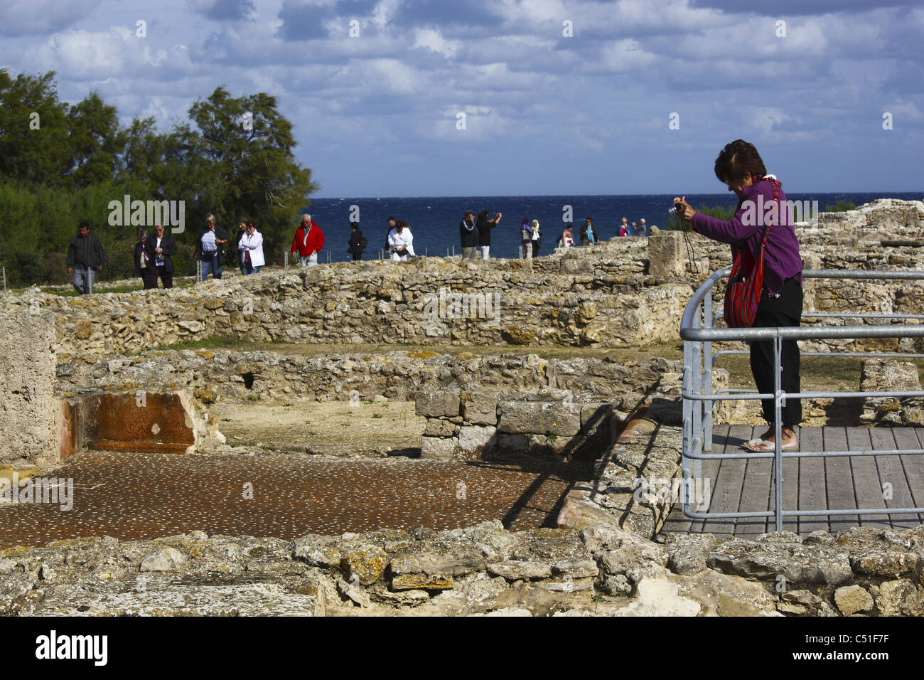
<svg viewBox="0 0 924 680"><path fill-rule="evenodd" d="M883 205L878 205L883 204ZM902 204L896 207L895 204ZM924 227L924 204L881 201L800 228L808 268L922 267L920 249L884 247ZM917 221L911 219L918 216ZM888 220L905 220L889 222ZM679 232L651 239L605 241L595 248L557 251L524 260L459 261L417 258L411 263L335 263L309 270L265 272L210 281L193 289L62 298L29 291L6 300L28 314L48 310L64 355L138 353L212 335L304 343L522 344L628 348L674 341L680 315L699 281L730 266L727 246L690 235L694 264ZM432 318L428 300L441 289L499 294L492 318ZM924 312L918 282L808 281L806 310ZM717 297L719 297L717 295ZM843 323L833 319L826 323ZM848 321L848 323L853 323ZM882 343L881 343L882 344ZM920 343L885 342L886 349ZM821 348L822 343L807 345Z"/></svg>

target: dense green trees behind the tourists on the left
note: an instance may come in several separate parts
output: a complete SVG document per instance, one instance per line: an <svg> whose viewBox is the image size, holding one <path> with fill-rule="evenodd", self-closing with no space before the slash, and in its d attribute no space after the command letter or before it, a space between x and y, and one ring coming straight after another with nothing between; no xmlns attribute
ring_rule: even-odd
<svg viewBox="0 0 924 680"><path fill-rule="evenodd" d="M134 278L138 231L153 225L109 224L110 202L125 195L185 202L176 276L194 271L191 254L210 212L232 240L238 215L255 220L267 264L281 260L317 187L292 155L298 142L275 97L235 98L219 87L188 117L166 132L152 118L122 128L99 93L75 105L59 101L54 71L12 79L0 69L0 265L8 285L66 283L67 246L84 219L106 253L98 280ZM225 255L233 263L232 244Z"/></svg>

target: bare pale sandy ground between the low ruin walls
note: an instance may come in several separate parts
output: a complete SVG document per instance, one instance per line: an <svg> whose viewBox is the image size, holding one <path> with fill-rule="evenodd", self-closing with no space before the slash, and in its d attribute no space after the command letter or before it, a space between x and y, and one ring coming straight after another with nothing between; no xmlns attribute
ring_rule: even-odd
<svg viewBox="0 0 924 680"><path fill-rule="evenodd" d="M427 421L414 402L221 403L213 412L232 446L341 456L417 456Z"/></svg>

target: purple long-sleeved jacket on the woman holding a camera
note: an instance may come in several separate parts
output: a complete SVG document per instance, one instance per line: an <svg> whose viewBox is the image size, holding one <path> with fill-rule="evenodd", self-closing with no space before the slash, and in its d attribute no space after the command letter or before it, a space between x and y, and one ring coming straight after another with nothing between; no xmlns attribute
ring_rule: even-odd
<svg viewBox="0 0 924 680"><path fill-rule="evenodd" d="M750 277L754 264L760 255L760 241L763 238L764 216L773 204L773 188L766 179L745 187L744 199L738 202L731 222L697 213L693 216L693 230L712 239L731 243L732 257L739 248L742 253L741 273ZM780 189L781 219L774 220L767 237L767 250L763 260L763 285L772 295L783 290L787 278L796 278L802 285L802 258L799 256L799 241L793 228L792 216L786 207L786 194Z"/></svg>

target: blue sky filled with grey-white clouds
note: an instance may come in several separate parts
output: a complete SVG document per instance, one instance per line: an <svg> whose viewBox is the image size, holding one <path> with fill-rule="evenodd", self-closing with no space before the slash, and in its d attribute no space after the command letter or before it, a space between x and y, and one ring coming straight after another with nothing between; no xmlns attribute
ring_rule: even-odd
<svg viewBox="0 0 924 680"><path fill-rule="evenodd" d="M0 6L0 67L125 122L273 94L325 197L722 192L739 137L790 192L921 191L922 43L918 0Z"/></svg>

